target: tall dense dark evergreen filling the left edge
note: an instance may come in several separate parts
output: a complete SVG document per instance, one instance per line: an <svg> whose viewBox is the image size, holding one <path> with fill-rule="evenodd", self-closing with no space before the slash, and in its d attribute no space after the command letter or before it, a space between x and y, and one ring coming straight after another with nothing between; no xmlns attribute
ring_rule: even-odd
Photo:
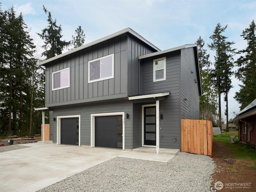
<svg viewBox="0 0 256 192"><path fill-rule="evenodd" d="M35 46L22 14L16 17L11 7L0 10L0 16L1 120L7 121L4 114L8 111L8 134L18 134L24 128L24 87ZM5 129L6 125L1 124L1 130Z"/></svg>

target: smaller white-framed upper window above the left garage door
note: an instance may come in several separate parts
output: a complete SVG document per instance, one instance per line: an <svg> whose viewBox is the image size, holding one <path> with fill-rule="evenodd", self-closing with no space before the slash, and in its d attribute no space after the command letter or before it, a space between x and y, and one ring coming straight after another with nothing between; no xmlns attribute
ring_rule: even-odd
<svg viewBox="0 0 256 192"><path fill-rule="evenodd" d="M52 73L52 90L58 90L69 87L69 68L62 69Z"/></svg>

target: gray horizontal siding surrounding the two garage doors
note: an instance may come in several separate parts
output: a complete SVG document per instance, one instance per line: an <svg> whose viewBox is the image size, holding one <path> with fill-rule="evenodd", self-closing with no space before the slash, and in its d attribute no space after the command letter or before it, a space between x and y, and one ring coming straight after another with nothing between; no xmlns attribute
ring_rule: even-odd
<svg viewBox="0 0 256 192"><path fill-rule="evenodd" d="M51 118L57 116L81 115L81 145L90 145L91 142L91 114L125 112L132 114L132 102L129 100L100 102L88 105L55 108ZM51 140L57 142L57 121L50 122ZM132 148L132 118L125 119L125 148Z"/></svg>

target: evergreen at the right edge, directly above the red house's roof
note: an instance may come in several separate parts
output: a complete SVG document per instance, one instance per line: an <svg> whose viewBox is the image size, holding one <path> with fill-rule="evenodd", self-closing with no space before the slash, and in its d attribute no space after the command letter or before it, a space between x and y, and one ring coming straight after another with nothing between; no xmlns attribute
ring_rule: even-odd
<svg viewBox="0 0 256 192"><path fill-rule="evenodd" d="M244 109L256 98L256 25L254 20L249 28L243 30L241 35L247 41L247 47L239 50L243 54L236 60L239 69L236 77L243 83L239 92L236 92L235 99L241 104L240 109Z"/></svg>

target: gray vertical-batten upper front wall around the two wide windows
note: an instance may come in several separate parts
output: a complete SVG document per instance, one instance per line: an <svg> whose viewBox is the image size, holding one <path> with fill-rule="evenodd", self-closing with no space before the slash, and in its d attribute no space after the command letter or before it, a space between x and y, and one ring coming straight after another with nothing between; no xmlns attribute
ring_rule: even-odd
<svg viewBox="0 0 256 192"><path fill-rule="evenodd" d="M114 78L88 84L88 61L114 54ZM46 106L127 97L127 35L70 54L46 66ZM70 67L70 87L52 91L52 72Z"/></svg>

